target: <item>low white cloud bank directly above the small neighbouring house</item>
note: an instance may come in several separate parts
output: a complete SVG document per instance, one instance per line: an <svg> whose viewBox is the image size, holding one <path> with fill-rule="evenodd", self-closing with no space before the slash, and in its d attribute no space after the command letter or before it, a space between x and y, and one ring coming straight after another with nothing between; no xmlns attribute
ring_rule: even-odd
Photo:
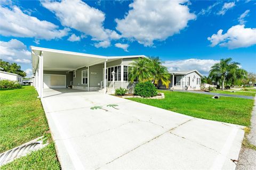
<svg viewBox="0 0 256 170"><path fill-rule="evenodd" d="M165 61L163 65L167 67L169 72L197 70L201 74L207 75L211 70L211 66L218 62L218 60L199 60L191 58L188 60Z"/></svg>

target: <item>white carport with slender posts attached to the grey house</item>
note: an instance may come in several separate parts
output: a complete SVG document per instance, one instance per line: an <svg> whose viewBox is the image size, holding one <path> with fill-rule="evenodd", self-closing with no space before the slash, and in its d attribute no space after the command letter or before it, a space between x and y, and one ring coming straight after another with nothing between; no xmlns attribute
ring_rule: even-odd
<svg viewBox="0 0 256 170"><path fill-rule="evenodd" d="M90 81L90 66L96 64L104 64L104 75L106 75L106 63L124 58L125 56L106 57L100 55L91 55L84 53L68 52L63 50L41 48L31 46L31 57L34 77L34 86L39 94L39 98L43 97L43 88L53 84L55 88L66 88L66 78L58 74L46 74L47 71L73 72L82 67L87 67L87 80ZM133 57L133 56L127 56ZM106 79L102 76L103 90L106 93ZM50 85L49 85L50 84ZM89 91L89 83L87 83L87 91Z"/></svg>

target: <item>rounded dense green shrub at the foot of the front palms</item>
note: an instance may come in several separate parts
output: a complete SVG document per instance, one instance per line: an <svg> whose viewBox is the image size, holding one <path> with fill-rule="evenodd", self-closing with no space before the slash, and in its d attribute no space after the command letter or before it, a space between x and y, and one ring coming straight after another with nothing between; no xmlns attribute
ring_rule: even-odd
<svg viewBox="0 0 256 170"><path fill-rule="evenodd" d="M157 95L157 90L154 84L149 81L139 82L135 85L134 95L141 97L153 97Z"/></svg>

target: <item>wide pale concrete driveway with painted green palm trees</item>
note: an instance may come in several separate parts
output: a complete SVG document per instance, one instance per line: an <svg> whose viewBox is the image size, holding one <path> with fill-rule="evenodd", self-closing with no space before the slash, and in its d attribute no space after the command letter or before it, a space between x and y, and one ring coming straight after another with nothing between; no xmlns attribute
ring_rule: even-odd
<svg viewBox="0 0 256 170"><path fill-rule="evenodd" d="M45 89L44 95L62 169L235 169L242 126L99 92Z"/></svg>

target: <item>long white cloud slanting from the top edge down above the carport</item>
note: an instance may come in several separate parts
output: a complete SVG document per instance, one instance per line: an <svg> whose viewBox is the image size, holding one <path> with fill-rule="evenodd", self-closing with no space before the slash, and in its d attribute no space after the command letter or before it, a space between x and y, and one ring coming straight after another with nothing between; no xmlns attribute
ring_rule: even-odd
<svg viewBox="0 0 256 170"><path fill-rule="evenodd" d="M104 44L102 42L120 37L116 31L103 28L105 13L80 0L42 1L41 3L45 8L55 13L62 25L90 35L94 41L101 41L98 44Z"/></svg>

